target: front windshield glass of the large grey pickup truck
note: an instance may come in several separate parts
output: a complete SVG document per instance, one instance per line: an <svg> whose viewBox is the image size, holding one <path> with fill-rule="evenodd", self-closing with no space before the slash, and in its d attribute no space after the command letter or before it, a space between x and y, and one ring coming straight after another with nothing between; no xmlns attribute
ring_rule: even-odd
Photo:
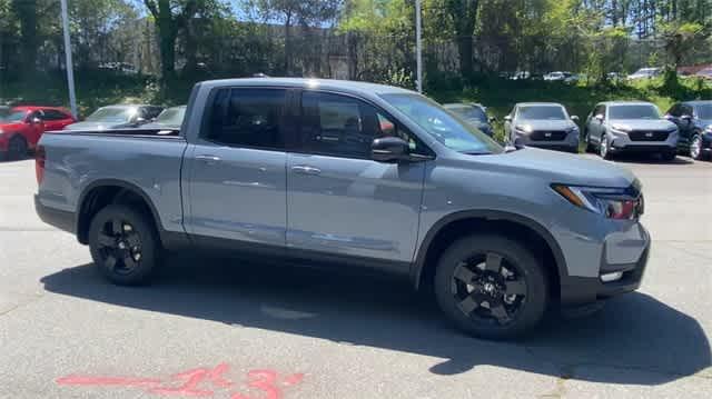
<svg viewBox="0 0 712 399"><path fill-rule="evenodd" d="M419 94L380 94L435 140L455 151L473 154L500 153L504 149L477 128Z"/></svg>

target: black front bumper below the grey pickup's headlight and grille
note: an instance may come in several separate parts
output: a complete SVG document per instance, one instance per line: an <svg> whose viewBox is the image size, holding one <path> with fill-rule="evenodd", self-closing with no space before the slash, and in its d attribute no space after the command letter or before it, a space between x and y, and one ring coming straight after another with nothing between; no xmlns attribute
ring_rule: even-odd
<svg viewBox="0 0 712 399"><path fill-rule="evenodd" d="M564 307L578 307L607 299L621 293L631 292L640 288L643 275L647 266L651 239L649 232L641 226L642 238L631 240L621 238L615 242L604 245L599 268L599 277L564 276L561 281L561 303ZM619 246L611 250L611 246ZM621 251L625 246L630 247L630 253L621 253L619 259L630 258L631 253L640 253L637 259L629 263L610 263L612 251ZM642 248L641 248L642 247ZM637 252L642 249L642 252ZM601 276L621 272L622 277L615 281L604 282Z"/></svg>

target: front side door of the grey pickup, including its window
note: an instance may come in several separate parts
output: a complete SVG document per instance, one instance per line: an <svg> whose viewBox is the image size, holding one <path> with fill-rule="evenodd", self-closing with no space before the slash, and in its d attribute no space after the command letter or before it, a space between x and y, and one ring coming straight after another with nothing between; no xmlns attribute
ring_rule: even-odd
<svg viewBox="0 0 712 399"><path fill-rule="evenodd" d="M287 159L288 248L411 262L427 162L377 162L370 143L398 136L412 151L423 144L385 112L334 93L305 91L300 127Z"/></svg>

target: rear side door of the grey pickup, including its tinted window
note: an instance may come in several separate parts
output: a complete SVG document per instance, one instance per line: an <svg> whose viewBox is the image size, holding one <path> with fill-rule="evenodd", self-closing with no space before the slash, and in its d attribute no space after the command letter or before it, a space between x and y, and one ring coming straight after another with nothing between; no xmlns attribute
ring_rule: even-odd
<svg viewBox="0 0 712 399"><path fill-rule="evenodd" d="M186 152L185 223L197 240L284 249L286 93L279 88L211 93L198 138Z"/></svg>

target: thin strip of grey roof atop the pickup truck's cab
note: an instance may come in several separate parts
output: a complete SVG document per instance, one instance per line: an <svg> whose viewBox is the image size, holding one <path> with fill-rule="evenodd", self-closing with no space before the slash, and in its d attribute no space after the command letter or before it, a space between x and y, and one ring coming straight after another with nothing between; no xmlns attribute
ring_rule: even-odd
<svg viewBox="0 0 712 399"><path fill-rule="evenodd" d="M413 93L412 90L406 90L393 86L376 84L368 82L359 82L353 80L336 80L336 79L310 79L310 78L240 78L240 79L221 79L221 80L207 80L200 83L206 87L224 87L224 86L260 86L260 87L293 87L293 88L322 88L334 89L358 93Z"/></svg>

